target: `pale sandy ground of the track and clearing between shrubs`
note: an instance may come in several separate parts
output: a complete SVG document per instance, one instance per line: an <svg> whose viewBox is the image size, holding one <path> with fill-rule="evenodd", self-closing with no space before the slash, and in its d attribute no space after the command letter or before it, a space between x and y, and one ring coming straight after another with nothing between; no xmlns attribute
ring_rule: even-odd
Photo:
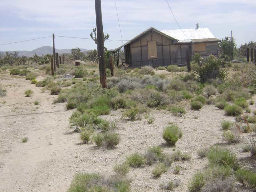
<svg viewBox="0 0 256 192"><path fill-rule="evenodd" d="M38 77L37 79L42 79ZM24 77L11 77L1 74L1 86L7 90L6 97L0 98L0 191L1 192L64 192L72 177L78 172L98 172L113 175L112 166L123 162L127 155L145 150L154 145L163 147L166 154L172 154L174 147L165 145L162 138L163 128L170 122L180 126L184 134L176 143L176 150L192 155L190 161L174 162L166 173L155 179L151 171L154 165L132 168L128 177L133 179L132 191L164 191L160 184L177 179L180 181L176 192L187 191L188 179L207 166L207 159L200 159L196 151L204 146L222 143L244 160L246 166L255 167L241 153L240 144L223 143L220 122L235 121L234 117L224 115L214 105L205 105L200 111L192 111L187 106L184 117L173 116L167 111L153 110L155 122L120 120L121 111L112 111L102 116L110 121L118 120L116 132L121 142L113 149L96 148L95 144L82 144L79 134L69 128L69 117L74 110L66 111L65 103L52 104L57 97L40 87L30 84ZM25 97L27 89L34 91ZM39 105L34 105L38 100ZM255 98L253 98L255 101ZM5 101L5 103L4 103ZM250 106L255 110L254 106ZM247 137L248 134L243 134ZM28 137L27 143L21 140ZM181 166L179 174L173 173L176 165Z"/></svg>

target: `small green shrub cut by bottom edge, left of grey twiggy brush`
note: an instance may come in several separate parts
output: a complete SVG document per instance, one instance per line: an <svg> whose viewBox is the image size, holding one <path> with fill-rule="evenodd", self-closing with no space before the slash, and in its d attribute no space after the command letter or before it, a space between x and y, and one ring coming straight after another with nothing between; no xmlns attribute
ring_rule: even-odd
<svg viewBox="0 0 256 192"><path fill-rule="evenodd" d="M187 188L189 192L197 192L205 185L205 176L201 172L197 172L191 179L188 180Z"/></svg>

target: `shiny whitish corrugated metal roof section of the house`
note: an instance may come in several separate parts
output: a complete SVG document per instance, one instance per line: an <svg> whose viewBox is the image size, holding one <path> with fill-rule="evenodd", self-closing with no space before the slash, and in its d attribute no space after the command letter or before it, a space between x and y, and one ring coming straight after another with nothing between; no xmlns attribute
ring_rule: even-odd
<svg viewBox="0 0 256 192"><path fill-rule="evenodd" d="M215 38L208 28L198 29L175 29L175 30L164 30L162 33L178 39L179 42L190 42L191 39L210 39Z"/></svg>

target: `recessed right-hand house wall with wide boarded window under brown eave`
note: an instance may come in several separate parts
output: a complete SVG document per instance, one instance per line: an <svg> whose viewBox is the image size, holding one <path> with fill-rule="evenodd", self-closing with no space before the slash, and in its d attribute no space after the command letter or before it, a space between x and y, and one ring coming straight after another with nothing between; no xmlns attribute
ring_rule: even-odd
<svg viewBox="0 0 256 192"><path fill-rule="evenodd" d="M202 57L218 56L218 43L192 43L192 54L199 53Z"/></svg>

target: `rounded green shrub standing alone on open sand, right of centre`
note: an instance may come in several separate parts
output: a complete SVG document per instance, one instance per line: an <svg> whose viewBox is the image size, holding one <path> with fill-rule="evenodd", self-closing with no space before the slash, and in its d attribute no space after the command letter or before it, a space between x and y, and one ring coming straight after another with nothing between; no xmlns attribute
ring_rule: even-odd
<svg viewBox="0 0 256 192"><path fill-rule="evenodd" d="M173 124L164 128L163 138L168 144L175 145L182 134L183 132L179 129L179 127Z"/></svg>

